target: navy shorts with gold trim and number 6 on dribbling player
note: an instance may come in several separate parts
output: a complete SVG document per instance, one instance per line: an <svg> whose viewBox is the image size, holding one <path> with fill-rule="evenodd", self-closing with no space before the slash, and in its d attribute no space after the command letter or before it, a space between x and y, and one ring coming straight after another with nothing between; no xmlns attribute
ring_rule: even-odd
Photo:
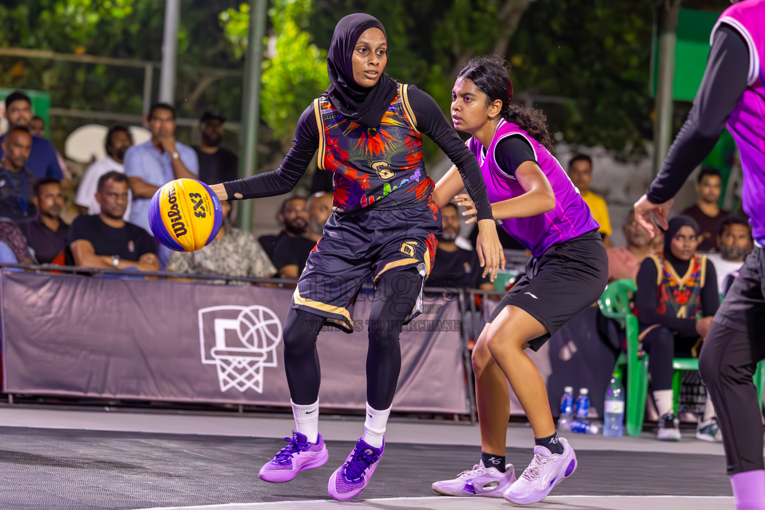
<svg viewBox="0 0 765 510"><path fill-rule="evenodd" d="M350 306L361 286L390 271L416 268L428 278L441 233L441 212L428 201L394 208L333 213L324 236L308 255L292 308L324 317L325 323L353 332ZM422 313L422 284L415 309Z"/></svg>

